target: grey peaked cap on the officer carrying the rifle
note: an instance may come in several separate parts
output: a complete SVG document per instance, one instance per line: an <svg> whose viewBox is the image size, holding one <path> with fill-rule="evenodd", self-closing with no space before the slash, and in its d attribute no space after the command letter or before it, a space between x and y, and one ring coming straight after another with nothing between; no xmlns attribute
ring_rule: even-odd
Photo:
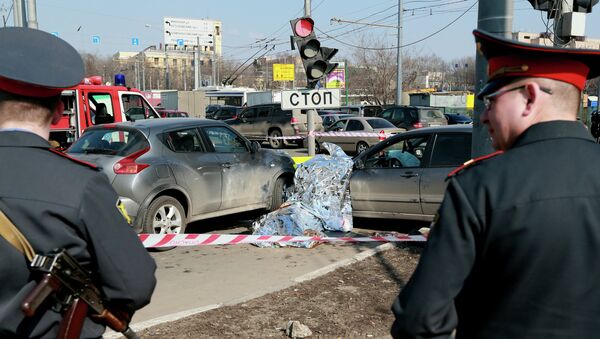
<svg viewBox="0 0 600 339"><path fill-rule="evenodd" d="M83 79L83 60L64 40L31 28L0 28L0 90L47 98Z"/></svg>

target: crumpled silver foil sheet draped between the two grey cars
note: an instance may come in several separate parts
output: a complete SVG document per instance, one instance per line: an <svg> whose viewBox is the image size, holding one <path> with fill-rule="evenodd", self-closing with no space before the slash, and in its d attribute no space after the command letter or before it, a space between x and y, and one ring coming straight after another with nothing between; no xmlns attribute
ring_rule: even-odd
<svg viewBox="0 0 600 339"><path fill-rule="evenodd" d="M354 165L342 149L323 143L330 155L319 154L298 165L294 190L278 210L252 224L254 235L324 236L324 230L350 232L350 175ZM312 248L318 242L261 243L260 247Z"/></svg>

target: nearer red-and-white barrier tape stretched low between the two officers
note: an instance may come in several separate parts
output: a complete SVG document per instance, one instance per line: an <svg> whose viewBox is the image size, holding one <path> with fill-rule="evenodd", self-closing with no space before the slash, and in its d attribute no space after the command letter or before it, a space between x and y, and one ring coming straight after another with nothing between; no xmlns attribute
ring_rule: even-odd
<svg viewBox="0 0 600 339"><path fill-rule="evenodd" d="M171 246L235 245L258 243L286 243L300 241L318 242L424 242L422 235L387 235L383 237L307 237L290 235L246 235L246 234L139 234L146 248Z"/></svg>

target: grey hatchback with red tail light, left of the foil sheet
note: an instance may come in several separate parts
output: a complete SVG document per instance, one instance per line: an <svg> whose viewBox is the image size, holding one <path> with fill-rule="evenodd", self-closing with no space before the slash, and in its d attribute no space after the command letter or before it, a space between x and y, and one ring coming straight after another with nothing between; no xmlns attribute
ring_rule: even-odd
<svg viewBox="0 0 600 339"><path fill-rule="evenodd" d="M191 221L274 210L293 184L291 157L217 120L94 126L67 153L101 168L138 233L184 233Z"/></svg>

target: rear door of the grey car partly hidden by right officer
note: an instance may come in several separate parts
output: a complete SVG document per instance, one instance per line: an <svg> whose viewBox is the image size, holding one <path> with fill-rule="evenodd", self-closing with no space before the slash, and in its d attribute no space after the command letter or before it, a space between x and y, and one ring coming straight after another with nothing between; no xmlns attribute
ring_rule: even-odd
<svg viewBox="0 0 600 339"><path fill-rule="evenodd" d="M421 176L423 214L435 215L446 191L446 177L471 159L471 133L438 133Z"/></svg>

